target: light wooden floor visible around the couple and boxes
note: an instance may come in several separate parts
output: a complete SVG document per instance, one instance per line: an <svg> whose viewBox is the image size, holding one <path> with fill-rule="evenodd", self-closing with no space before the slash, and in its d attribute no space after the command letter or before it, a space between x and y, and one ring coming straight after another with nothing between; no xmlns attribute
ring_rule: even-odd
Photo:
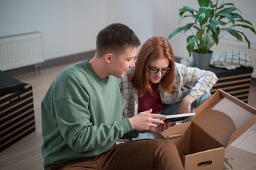
<svg viewBox="0 0 256 170"><path fill-rule="evenodd" d="M33 85L35 109L35 132L0 152L0 169L43 169L40 147L43 144L40 118L40 102L57 73L67 65L43 69L35 76L33 72L15 78ZM256 81L252 81L248 104L256 108ZM232 157L234 169L255 169L256 167L256 124L226 149L226 157Z"/></svg>

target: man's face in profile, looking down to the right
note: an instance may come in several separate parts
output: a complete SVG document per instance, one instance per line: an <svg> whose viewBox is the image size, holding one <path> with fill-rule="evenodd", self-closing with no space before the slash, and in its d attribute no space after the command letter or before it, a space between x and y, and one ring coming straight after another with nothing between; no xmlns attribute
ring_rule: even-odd
<svg viewBox="0 0 256 170"><path fill-rule="evenodd" d="M127 47L122 53L118 53L113 57L112 75L114 77L123 78L130 67L134 67L134 59L136 57L137 47Z"/></svg>

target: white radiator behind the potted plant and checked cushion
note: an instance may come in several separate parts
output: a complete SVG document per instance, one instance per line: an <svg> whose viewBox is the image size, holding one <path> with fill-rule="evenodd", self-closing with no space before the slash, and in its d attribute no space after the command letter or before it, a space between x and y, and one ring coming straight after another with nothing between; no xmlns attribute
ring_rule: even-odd
<svg viewBox="0 0 256 170"><path fill-rule="evenodd" d="M214 45L211 49L213 52L226 52L226 51L241 51L245 52L250 56L250 60L252 61L252 77L256 78L256 44L251 43L250 49L248 49L248 45L246 42L238 42L235 40L221 39L218 42L218 45Z"/></svg>

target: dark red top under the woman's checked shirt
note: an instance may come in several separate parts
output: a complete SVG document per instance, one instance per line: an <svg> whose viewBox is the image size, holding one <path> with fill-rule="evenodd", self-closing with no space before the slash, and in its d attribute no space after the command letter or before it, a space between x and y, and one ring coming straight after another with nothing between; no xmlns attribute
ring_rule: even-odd
<svg viewBox="0 0 256 170"><path fill-rule="evenodd" d="M152 108L152 113L158 113L165 108L165 104L160 99L159 84L150 83L152 94L150 91L146 91L141 97L138 97L138 113L148 111Z"/></svg>

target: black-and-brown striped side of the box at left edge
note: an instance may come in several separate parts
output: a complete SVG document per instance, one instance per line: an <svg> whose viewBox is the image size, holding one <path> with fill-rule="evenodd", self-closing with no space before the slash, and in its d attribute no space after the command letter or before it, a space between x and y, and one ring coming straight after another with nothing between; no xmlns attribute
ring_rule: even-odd
<svg viewBox="0 0 256 170"><path fill-rule="evenodd" d="M15 91L0 96L0 152L35 130L32 85Z"/></svg>

